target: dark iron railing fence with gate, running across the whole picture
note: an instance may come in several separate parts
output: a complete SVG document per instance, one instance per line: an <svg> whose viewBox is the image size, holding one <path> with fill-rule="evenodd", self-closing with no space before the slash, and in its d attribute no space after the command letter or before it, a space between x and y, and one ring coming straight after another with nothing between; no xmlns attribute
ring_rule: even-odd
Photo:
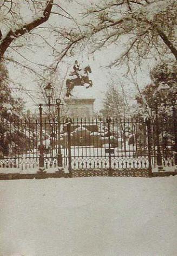
<svg viewBox="0 0 177 256"><path fill-rule="evenodd" d="M176 163L176 128L167 120L21 120L0 125L0 168L73 176L148 176Z"/></svg>

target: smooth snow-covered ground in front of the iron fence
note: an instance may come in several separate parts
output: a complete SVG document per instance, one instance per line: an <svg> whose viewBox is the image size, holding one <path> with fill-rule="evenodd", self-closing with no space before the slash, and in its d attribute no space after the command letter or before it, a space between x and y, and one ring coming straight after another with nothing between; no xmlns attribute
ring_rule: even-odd
<svg viewBox="0 0 177 256"><path fill-rule="evenodd" d="M0 182L1 256L175 256L177 177Z"/></svg>

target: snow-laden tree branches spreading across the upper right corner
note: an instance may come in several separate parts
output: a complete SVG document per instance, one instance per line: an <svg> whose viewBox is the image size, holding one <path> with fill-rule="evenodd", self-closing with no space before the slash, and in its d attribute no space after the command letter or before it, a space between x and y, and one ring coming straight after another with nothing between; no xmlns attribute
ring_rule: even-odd
<svg viewBox="0 0 177 256"><path fill-rule="evenodd" d="M75 41L89 41L91 52L111 44L117 49L123 45L112 65L141 66L143 60L155 55L172 55L177 60L176 7L174 0L94 0L81 14L81 33ZM66 39L71 42L77 30Z"/></svg>

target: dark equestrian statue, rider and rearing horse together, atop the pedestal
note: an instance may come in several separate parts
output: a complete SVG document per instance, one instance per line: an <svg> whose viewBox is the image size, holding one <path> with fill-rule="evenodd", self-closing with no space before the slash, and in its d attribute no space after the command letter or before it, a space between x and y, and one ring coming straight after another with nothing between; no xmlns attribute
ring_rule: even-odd
<svg viewBox="0 0 177 256"><path fill-rule="evenodd" d="M73 76L73 79L67 79L67 92L66 97L70 97L71 91L73 90L74 86L84 86L84 84L88 84L86 88L89 88L93 85L92 81L89 79L89 73L91 73L90 66L86 66L82 69L80 68L80 64L76 60L73 66L74 71L70 73L70 76Z"/></svg>

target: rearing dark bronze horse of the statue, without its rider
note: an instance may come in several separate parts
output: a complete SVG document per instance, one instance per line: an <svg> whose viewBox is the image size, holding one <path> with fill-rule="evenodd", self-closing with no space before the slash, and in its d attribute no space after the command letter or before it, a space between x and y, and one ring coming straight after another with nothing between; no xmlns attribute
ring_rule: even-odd
<svg viewBox="0 0 177 256"><path fill-rule="evenodd" d="M83 75L79 76L78 73L74 73L77 76L76 78L66 80L66 85L67 85L67 92L65 94L66 97L72 96L71 91L73 90L74 86L84 86L84 84L88 84L86 88L89 88L93 85L93 82L89 79L89 76L88 76L89 73L91 73L91 68L90 66L87 66L84 68Z"/></svg>

